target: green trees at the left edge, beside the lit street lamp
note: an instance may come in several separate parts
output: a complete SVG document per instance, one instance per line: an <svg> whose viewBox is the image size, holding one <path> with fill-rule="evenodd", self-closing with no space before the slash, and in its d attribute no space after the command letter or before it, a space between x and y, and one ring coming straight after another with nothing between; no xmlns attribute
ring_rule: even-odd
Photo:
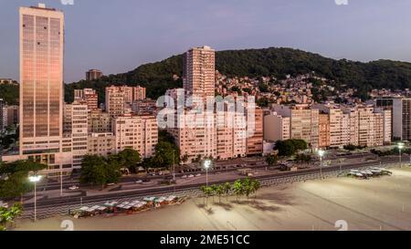
<svg viewBox="0 0 411 249"><path fill-rule="evenodd" d="M28 181L30 172L43 171L47 165L35 161L14 161L0 164L0 196L5 199L22 198L26 192L34 189L33 183Z"/></svg>

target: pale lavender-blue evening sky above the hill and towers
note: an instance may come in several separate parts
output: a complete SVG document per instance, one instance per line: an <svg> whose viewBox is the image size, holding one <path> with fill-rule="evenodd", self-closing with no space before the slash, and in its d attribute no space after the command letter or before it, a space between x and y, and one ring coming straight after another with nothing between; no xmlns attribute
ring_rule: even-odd
<svg viewBox="0 0 411 249"><path fill-rule="evenodd" d="M411 0L40 1L65 13L66 83L90 68L123 73L203 45L411 62ZM0 78L18 79L18 7L37 4L0 0Z"/></svg>

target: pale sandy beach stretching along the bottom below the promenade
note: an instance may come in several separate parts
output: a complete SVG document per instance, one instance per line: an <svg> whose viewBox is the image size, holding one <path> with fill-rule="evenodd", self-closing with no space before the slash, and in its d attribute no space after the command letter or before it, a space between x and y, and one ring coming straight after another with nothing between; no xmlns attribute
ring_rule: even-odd
<svg viewBox="0 0 411 249"><path fill-rule="evenodd" d="M16 230L61 231L70 220L75 231L350 231L411 230L411 169L372 180L335 178L261 189L254 197L192 199L145 213L87 219L54 217L18 221Z"/></svg>

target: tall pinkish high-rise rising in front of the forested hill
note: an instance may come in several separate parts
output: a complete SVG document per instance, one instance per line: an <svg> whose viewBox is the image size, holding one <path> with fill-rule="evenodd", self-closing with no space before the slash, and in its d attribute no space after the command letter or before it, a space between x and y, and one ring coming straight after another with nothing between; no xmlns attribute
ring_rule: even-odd
<svg viewBox="0 0 411 249"><path fill-rule="evenodd" d="M214 98L216 51L211 47L194 47L184 54L184 90L187 95Z"/></svg>

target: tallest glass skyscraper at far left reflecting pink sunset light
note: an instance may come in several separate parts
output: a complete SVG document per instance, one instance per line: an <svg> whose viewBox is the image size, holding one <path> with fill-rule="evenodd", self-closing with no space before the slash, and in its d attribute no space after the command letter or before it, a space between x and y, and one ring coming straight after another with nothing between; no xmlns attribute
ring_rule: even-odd
<svg viewBox="0 0 411 249"><path fill-rule="evenodd" d="M20 7L20 156L56 169L63 122L64 15Z"/></svg>

